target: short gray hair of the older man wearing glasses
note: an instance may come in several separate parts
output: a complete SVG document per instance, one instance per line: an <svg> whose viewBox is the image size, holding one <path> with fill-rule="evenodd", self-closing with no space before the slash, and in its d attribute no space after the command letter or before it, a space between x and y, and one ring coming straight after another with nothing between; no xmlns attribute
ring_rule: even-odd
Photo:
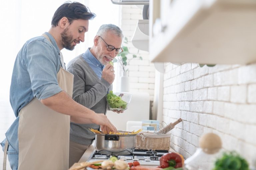
<svg viewBox="0 0 256 170"><path fill-rule="evenodd" d="M112 33L114 33L118 37L121 37L122 39L124 37L122 30L114 24L104 24L104 25L100 26L96 35L97 36L103 36L108 31L111 31Z"/></svg>

